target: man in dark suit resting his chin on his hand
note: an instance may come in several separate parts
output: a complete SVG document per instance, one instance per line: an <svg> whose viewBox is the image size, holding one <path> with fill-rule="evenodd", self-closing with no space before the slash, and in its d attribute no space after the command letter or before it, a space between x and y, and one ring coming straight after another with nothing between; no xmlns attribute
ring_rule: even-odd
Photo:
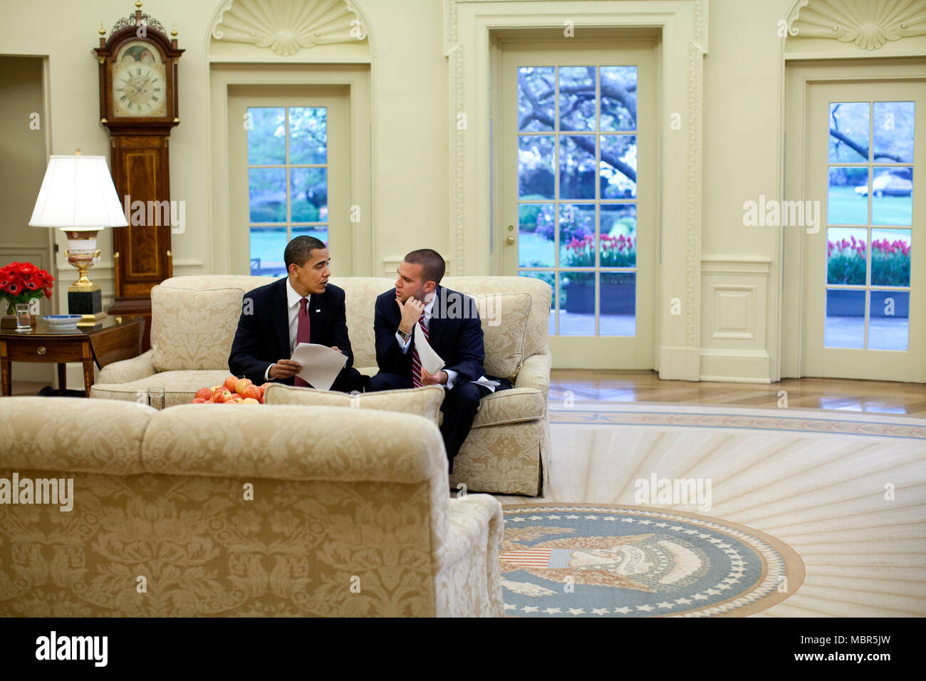
<svg viewBox="0 0 926 681"><path fill-rule="evenodd" d="M511 384L494 378L501 384L497 388L483 385L488 382L482 368L485 348L479 312L471 297L439 285L444 277L444 258L437 251L412 251L397 271L395 288L376 298L373 330L380 372L369 379L367 392L444 385L441 435L453 473L454 457L469 435L479 400ZM432 374L421 366L415 348L416 324L434 352L444 359L444 369Z"/></svg>

